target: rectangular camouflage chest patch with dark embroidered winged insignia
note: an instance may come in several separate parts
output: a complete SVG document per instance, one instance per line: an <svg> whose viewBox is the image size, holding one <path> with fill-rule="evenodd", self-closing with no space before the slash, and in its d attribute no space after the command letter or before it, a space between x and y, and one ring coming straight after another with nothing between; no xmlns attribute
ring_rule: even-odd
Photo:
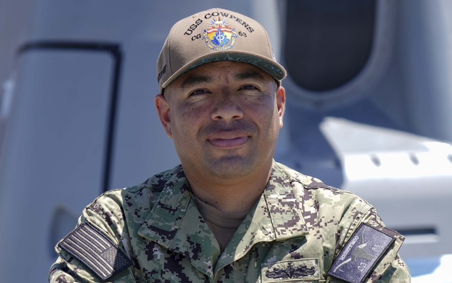
<svg viewBox="0 0 452 283"><path fill-rule="evenodd" d="M262 282L318 280L320 279L318 259L302 258L263 264L261 278Z"/></svg>

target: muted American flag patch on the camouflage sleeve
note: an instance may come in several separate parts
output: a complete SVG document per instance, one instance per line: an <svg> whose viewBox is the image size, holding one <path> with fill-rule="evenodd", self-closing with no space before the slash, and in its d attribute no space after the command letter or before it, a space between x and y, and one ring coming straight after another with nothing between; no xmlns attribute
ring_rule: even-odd
<svg viewBox="0 0 452 283"><path fill-rule="evenodd" d="M132 265L127 255L91 224L84 222L58 246L85 264L102 280Z"/></svg>

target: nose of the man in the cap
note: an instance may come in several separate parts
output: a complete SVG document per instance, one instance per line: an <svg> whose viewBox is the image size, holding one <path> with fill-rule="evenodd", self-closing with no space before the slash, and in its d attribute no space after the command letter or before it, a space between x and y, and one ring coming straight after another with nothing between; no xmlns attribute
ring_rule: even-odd
<svg viewBox="0 0 452 283"><path fill-rule="evenodd" d="M216 106L212 111L212 120L224 120L225 122L229 122L242 118L243 111L239 98L230 91L223 91L220 93Z"/></svg>

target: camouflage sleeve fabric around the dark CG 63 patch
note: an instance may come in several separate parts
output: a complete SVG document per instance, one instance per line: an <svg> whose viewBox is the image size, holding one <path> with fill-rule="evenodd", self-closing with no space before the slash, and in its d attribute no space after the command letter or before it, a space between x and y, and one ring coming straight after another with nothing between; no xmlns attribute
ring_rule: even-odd
<svg viewBox="0 0 452 283"><path fill-rule="evenodd" d="M398 254L398 250L403 243L404 237L396 231L387 229L372 206L367 203L363 205L362 200L359 200L358 202L359 204L355 203L357 205L352 206L352 208L348 210L340 223L340 230L342 233L337 241L334 260L336 260L338 253L351 239L354 231L358 229L360 224L365 223L384 232L386 235L390 235L395 240L381 255L381 258L376 262L376 265L370 270L369 275L364 278L363 282L410 282L411 277L408 266ZM327 282L343 281L328 277Z"/></svg>

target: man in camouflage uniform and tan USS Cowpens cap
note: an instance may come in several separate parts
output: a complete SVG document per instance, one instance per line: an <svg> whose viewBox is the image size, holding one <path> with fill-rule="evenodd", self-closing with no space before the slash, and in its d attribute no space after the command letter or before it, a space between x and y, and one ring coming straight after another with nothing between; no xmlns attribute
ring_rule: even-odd
<svg viewBox="0 0 452 283"><path fill-rule="evenodd" d="M256 21L176 23L157 62L181 165L88 205L51 282L409 282L403 236L375 209L273 160L286 71Z"/></svg>

